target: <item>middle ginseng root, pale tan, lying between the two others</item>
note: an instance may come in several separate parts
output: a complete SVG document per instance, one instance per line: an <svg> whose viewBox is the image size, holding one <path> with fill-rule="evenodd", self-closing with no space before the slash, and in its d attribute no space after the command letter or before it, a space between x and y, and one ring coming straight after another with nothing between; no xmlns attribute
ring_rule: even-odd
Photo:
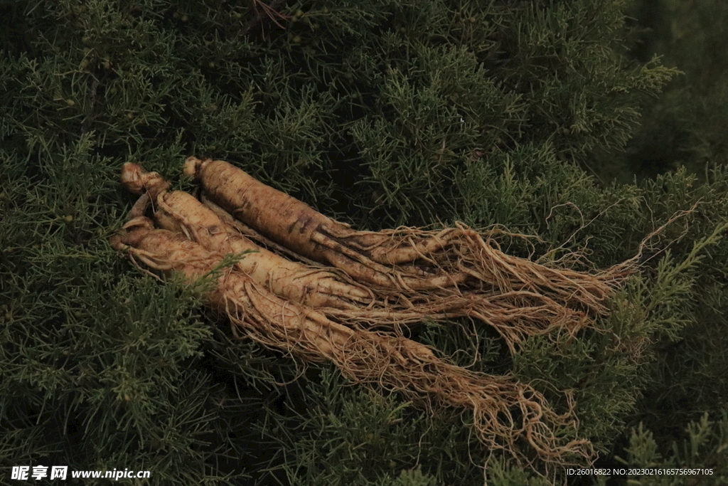
<svg viewBox="0 0 728 486"><path fill-rule="evenodd" d="M160 227L181 232L209 251L255 251L237 262L238 270L274 294L315 308L342 324L391 329L425 319L467 316L493 326L512 352L526 337L555 328L574 334L587 324L584 313L529 291L461 291L449 287L405 295L392 289L372 289L353 282L341 271L292 262L257 246L234 229L229 213L215 205L208 208L186 192L167 192L167 181L139 165L124 165L122 181L132 192L149 193Z"/></svg>

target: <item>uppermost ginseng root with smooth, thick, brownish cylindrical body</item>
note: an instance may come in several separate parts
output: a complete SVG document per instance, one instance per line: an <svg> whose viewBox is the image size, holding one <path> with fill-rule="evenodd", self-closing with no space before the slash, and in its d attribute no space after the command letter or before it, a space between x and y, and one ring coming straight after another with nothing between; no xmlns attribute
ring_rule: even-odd
<svg viewBox="0 0 728 486"><path fill-rule="evenodd" d="M199 180L216 204L276 243L356 281L408 295L452 287L523 291L574 310L606 313L604 299L626 273L614 267L592 275L509 256L487 234L462 224L438 231L353 230L222 160L189 157L184 173Z"/></svg>

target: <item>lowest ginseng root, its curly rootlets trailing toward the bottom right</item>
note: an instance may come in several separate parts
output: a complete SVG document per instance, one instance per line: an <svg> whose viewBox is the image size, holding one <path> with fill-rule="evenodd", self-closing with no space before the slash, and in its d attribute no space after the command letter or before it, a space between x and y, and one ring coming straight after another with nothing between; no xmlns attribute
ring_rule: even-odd
<svg viewBox="0 0 728 486"><path fill-rule="evenodd" d="M143 197L149 200L149 195ZM336 324L272 294L234 267L220 268L223 254L207 251L183 233L154 229L146 216L127 222L111 246L164 275L180 273L189 283L211 279L205 302L227 315L241 337L306 362L332 361L353 383L403 393L426 408L470 409L476 435L486 447L528 460L523 446L530 444L539 458L556 464L593 456L587 440L569 441L556 432L576 427L573 410L558 415L531 386L457 367L404 337Z"/></svg>

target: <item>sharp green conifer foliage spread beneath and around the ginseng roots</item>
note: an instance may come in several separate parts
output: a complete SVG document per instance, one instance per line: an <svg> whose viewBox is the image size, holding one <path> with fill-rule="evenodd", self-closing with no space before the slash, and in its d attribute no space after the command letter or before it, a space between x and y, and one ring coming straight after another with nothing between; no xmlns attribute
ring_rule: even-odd
<svg viewBox="0 0 728 486"><path fill-rule="evenodd" d="M116 254L108 238L133 202L122 163L189 188L190 154L361 229L499 225L529 236L497 238L510 254L587 271L639 254L611 315L575 338L532 339L515 356L468 322L424 323L414 338L513 374L563 411L573 399L579 430L558 433L591 439L602 461L641 422L628 461L724 467L728 171L627 185L588 175L616 171L605 161L620 160L676 72L652 53L625 57L629 7L301 0L275 4L281 29L225 0L0 4L0 474L43 463L142 465L150 485L566 479L483 450L467 412L424 411L234 342L201 313L200 287L162 285ZM722 51L708 51L717 72ZM695 49L671 52L698 62ZM726 83L697 84L696 66L674 63L690 81L650 112L702 106L689 120L705 125L680 125L681 146L720 162L723 105L705 100ZM670 452L689 423L697 454Z"/></svg>

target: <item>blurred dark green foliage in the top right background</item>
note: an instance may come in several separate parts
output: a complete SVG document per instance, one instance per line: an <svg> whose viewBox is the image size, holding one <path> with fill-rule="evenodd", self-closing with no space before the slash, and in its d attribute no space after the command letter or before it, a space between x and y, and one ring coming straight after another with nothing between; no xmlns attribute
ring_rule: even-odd
<svg viewBox="0 0 728 486"><path fill-rule="evenodd" d="M645 29L633 55L646 59L657 53L682 74L646 111L625 168L644 178L685 165L703 176L705 160L727 161L728 5L641 0L633 15Z"/></svg>

